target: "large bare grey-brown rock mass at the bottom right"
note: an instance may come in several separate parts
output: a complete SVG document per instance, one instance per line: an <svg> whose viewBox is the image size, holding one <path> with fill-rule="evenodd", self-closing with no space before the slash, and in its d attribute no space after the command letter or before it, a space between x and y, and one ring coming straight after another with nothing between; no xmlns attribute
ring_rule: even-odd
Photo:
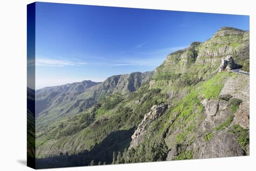
<svg viewBox="0 0 256 171"><path fill-rule="evenodd" d="M209 141L204 141L203 138L197 140L194 143L194 149L194 159L244 155L236 137L226 130L213 132L213 137Z"/></svg>

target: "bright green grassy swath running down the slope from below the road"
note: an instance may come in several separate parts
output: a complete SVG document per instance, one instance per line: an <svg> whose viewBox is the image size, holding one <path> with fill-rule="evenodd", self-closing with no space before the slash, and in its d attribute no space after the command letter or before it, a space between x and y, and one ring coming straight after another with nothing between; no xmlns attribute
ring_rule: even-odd
<svg viewBox="0 0 256 171"><path fill-rule="evenodd" d="M209 99L215 99L221 91L221 89L216 90L215 85L220 85L222 87L225 79L229 78L231 74L232 73L230 72L220 72L206 82L196 85L195 88L190 89L190 93L188 93L183 99L181 99L170 112L167 111L169 112L169 118L167 120L167 123L163 124L164 128L160 131L175 131L175 129L179 128L178 134L170 136L169 138L171 139L167 139L167 142L172 142L168 144L168 147L172 147L173 144L185 143L189 145L192 144L193 141L195 141L197 126L202 122L204 118L204 107L201 103L201 98L207 97ZM215 89L216 92L212 91L213 89ZM172 125L169 125L169 120L172 120L174 116L176 116L174 122L172 123ZM220 129L222 129L222 127L227 124L229 125L230 123L224 123L223 125L221 125ZM209 140L211 138L210 136L212 135L209 134ZM175 141L173 141L172 139L175 139Z"/></svg>

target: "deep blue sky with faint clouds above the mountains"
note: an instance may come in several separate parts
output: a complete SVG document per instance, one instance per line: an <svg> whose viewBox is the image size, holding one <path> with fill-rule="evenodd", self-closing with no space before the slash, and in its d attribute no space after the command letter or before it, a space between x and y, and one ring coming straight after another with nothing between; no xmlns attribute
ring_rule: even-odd
<svg viewBox="0 0 256 171"><path fill-rule="evenodd" d="M36 89L153 71L168 53L249 16L36 3Z"/></svg>

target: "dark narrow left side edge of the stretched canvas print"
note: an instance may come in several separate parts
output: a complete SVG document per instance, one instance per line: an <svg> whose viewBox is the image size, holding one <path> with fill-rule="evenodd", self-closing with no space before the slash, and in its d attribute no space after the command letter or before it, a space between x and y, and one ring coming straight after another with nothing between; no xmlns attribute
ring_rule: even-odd
<svg viewBox="0 0 256 171"><path fill-rule="evenodd" d="M27 166L35 168L35 3L27 5Z"/></svg>

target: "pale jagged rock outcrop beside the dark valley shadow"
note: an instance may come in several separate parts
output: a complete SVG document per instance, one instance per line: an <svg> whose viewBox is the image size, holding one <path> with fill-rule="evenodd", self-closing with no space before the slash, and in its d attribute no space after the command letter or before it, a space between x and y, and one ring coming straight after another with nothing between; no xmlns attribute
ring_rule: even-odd
<svg viewBox="0 0 256 171"><path fill-rule="evenodd" d="M132 135L132 141L130 143L129 149L132 147L137 146L148 128L157 118L159 118L167 109L168 105L161 104L161 105L153 105L151 111L145 114L143 120L141 121L140 125Z"/></svg>

